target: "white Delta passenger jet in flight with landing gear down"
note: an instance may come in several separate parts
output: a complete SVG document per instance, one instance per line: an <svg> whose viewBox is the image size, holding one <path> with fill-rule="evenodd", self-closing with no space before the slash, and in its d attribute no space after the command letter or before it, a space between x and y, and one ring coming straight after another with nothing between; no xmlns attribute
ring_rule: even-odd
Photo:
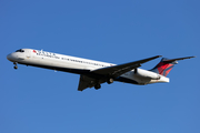
<svg viewBox="0 0 200 133"><path fill-rule="evenodd" d="M78 91L87 88L96 90L101 88L102 83L111 84L114 81L146 85L151 83L169 82L167 78L174 64L179 60L191 59L196 57L186 57L177 59L162 58L161 61L151 70L139 69L141 64L160 58L156 55L143 60L138 60L123 64L113 64L88 60L71 55L63 55L43 50L20 49L7 55L7 59L18 69L19 64L50 69L54 71L70 72L80 74Z"/></svg>

